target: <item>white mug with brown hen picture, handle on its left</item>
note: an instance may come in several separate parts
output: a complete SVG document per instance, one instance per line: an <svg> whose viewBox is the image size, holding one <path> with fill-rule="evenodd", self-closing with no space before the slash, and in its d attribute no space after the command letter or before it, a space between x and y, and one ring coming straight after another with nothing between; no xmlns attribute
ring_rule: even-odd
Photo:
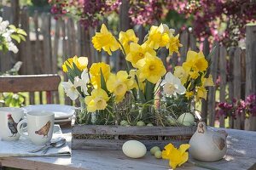
<svg viewBox="0 0 256 170"><path fill-rule="evenodd" d="M52 138L55 114L51 111L29 111L26 119L19 122L17 129L22 137L34 144L46 144ZM26 123L26 131L22 124Z"/></svg>

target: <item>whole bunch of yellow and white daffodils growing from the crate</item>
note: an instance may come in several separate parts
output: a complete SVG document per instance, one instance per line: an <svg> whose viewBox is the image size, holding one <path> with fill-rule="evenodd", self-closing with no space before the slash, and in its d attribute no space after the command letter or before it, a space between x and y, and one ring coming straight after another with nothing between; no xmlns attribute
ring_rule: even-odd
<svg viewBox="0 0 256 170"><path fill-rule="evenodd" d="M146 111L144 106L154 105L156 94L166 99L187 101L206 98L206 87L212 86L213 82L211 76L207 77L209 64L201 52L189 51L187 60L175 67L173 73L166 71L157 56L160 48L168 49L169 55L178 53L182 47L178 37L173 29L161 24L151 26L144 42L139 44L133 30L120 31L119 37L114 37L103 24L100 32L92 37L93 46L109 55L121 50L126 70L114 73L110 65L103 62L93 63L88 68L86 57L74 56L62 65L69 78L68 82L62 83L65 92L73 100L83 97L88 112L108 111L113 117L113 104L122 102L126 94L131 94L135 103Z"/></svg>

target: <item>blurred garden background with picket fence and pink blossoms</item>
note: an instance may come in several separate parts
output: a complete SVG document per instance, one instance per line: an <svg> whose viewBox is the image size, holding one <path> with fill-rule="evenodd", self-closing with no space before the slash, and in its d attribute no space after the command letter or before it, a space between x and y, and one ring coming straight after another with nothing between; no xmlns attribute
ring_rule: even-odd
<svg viewBox="0 0 256 170"><path fill-rule="evenodd" d="M115 35L132 28L140 40L150 26L164 23L175 29L183 44L172 56L161 50L159 56L168 70L181 65L189 49L207 56L216 47L211 65L215 86L207 89L207 100L196 105L204 120L210 126L256 130L255 0L0 0L0 16L27 33L26 42L17 44L17 54L0 53L2 75L56 73L66 81L61 65L74 55L88 57L89 65L103 61L113 71L125 69L121 53L109 57L92 46L91 37L102 23ZM12 70L18 61L20 69ZM75 105L61 86L54 101ZM1 94L1 102L46 101L45 94L21 93Z"/></svg>

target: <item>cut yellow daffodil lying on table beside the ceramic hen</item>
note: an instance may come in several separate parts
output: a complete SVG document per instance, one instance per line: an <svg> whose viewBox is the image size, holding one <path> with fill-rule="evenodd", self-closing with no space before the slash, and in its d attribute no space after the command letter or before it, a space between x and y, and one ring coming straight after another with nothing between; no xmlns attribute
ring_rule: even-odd
<svg viewBox="0 0 256 170"><path fill-rule="evenodd" d="M170 167L175 169L177 166L181 166L188 161L189 153L186 150L188 150L189 147L189 144L181 144L179 148L176 149L173 144L167 144L165 150L162 151L162 158L169 160Z"/></svg>

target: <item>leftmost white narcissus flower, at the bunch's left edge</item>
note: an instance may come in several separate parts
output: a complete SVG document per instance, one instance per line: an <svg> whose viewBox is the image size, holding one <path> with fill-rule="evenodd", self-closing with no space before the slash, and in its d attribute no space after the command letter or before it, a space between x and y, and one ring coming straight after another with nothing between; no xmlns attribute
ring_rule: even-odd
<svg viewBox="0 0 256 170"><path fill-rule="evenodd" d="M74 83L68 80L68 82L62 82L61 85L70 99L75 100L79 97L79 91L77 90L79 87L79 77L74 78Z"/></svg>

